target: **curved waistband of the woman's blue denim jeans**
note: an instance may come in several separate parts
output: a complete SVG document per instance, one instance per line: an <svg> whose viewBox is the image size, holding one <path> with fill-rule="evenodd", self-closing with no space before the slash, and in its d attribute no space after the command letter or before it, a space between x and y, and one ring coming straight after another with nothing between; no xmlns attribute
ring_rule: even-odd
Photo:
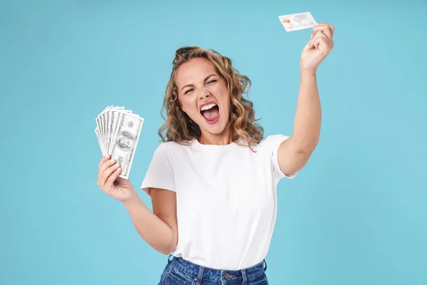
<svg viewBox="0 0 427 285"><path fill-rule="evenodd" d="M264 273L265 270L267 270L267 263L265 262L265 259L255 266L241 270L211 269L206 266L194 264L190 261L182 259L181 257L174 257L172 260L168 259L168 262L172 262L172 265L175 266L176 269L193 277L194 279L218 281L221 282L221 284L249 281L260 276Z"/></svg>

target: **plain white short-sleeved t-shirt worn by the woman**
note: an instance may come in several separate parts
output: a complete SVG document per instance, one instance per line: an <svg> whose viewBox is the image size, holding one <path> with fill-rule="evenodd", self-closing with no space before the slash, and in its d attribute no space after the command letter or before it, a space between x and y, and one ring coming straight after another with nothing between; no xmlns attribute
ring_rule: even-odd
<svg viewBox="0 0 427 285"><path fill-rule="evenodd" d="M172 252L194 264L238 270L260 263L276 219L276 185L285 176L277 155L289 137L270 135L249 147L164 142L141 185L176 192L178 244Z"/></svg>

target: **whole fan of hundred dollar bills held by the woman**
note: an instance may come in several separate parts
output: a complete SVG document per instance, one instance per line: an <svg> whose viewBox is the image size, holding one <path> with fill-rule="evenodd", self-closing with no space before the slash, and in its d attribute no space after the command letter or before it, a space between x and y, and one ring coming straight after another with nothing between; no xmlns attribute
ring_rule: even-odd
<svg viewBox="0 0 427 285"><path fill-rule="evenodd" d="M95 133L102 155L120 163L119 177L129 179L130 167L137 149L144 118L123 107L107 106L96 118Z"/></svg>

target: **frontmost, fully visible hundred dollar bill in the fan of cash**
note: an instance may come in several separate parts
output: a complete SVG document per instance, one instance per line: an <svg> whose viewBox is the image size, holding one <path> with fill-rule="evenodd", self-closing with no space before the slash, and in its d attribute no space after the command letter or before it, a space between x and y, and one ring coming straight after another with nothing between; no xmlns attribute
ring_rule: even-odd
<svg viewBox="0 0 427 285"><path fill-rule="evenodd" d="M115 113L117 114L117 123L115 130L112 130L110 155L122 166L119 177L129 179L144 118L125 110L117 110Z"/></svg>

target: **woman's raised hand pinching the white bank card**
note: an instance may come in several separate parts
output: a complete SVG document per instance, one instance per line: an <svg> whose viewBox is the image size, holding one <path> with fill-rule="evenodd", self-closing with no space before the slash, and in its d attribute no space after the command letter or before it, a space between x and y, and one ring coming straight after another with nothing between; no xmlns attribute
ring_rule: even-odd
<svg viewBox="0 0 427 285"><path fill-rule="evenodd" d="M317 66L334 47L334 41L332 40L334 30L334 26L326 23L319 23L313 27L312 38L302 49L300 66L303 70L316 72Z"/></svg>

